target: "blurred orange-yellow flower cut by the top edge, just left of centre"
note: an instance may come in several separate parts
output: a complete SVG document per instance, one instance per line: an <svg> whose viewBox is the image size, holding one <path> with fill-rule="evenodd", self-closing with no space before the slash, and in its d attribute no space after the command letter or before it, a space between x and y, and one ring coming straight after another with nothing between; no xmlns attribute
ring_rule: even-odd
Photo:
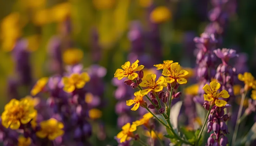
<svg viewBox="0 0 256 146"><path fill-rule="evenodd" d="M111 9L116 0L92 0L93 6L98 10Z"/></svg>

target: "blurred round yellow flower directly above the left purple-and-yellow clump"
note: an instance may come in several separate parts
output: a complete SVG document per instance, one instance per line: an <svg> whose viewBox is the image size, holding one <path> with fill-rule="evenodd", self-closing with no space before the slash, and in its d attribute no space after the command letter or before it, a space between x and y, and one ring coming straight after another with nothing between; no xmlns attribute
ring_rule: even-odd
<svg viewBox="0 0 256 146"><path fill-rule="evenodd" d="M79 63L84 56L84 53L81 49L70 48L64 51L63 61L68 65L74 65Z"/></svg>

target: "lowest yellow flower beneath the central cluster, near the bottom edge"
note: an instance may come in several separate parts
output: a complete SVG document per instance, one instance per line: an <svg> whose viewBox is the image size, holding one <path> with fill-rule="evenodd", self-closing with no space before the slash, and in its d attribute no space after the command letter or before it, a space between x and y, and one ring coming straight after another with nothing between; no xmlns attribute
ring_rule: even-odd
<svg viewBox="0 0 256 146"><path fill-rule="evenodd" d="M135 124L127 123L122 127L122 131L117 134L117 138L120 139L120 143L129 140L130 138L134 137L133 133L136 131L137 126Z"/></svg>

